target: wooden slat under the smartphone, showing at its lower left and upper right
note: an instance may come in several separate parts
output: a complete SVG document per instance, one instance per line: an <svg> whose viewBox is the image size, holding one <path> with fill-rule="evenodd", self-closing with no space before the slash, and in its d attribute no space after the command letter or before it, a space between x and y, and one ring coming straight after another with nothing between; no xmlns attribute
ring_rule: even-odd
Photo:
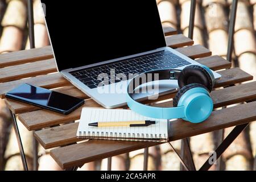
<svg viewBox="0 0 256 182"><path fill-rule="evenodd" d="M86 94L81 92L75 86L64 86L64 87L53 89L53 90L56 91L56 92L71 95L73 97L79 97L79 98L82 98L82 99L88 99L89 98L88 96L86 96ZM15 101L15 100L12 100L12 99L9 99L9 98L5 99L5 103L14 114L20 114L20 113L25 113L25 112L28 112L28 111L33 111L33 110L39 110L40 109L40 107L32 106L30 104L25 104L23 102Z"/></svg>

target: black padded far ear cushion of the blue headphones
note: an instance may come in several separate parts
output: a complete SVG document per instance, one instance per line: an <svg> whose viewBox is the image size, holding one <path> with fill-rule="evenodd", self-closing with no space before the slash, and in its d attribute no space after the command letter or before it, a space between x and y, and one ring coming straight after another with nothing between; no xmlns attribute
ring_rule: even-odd
<svg viewBox="0 0 256 182"><path fill-rule="evenodd" d="M178 84L180 88L183 88L185 85L197 83L204 85L211 92L213 88L212 79L205 68L199 65L189 65L181 71Z"/></svg>

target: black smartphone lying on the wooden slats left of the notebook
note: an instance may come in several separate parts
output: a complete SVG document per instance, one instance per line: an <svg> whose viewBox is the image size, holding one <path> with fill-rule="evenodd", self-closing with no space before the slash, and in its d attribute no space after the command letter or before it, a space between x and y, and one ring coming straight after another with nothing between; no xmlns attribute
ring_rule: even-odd
<svg viewBox="0 0 256 182"><path fill-rule="evenodd" d="M6 98L22 101L27 104L69 114L84 104L84 100L30 84L22 84L5 94Z"/></svg>

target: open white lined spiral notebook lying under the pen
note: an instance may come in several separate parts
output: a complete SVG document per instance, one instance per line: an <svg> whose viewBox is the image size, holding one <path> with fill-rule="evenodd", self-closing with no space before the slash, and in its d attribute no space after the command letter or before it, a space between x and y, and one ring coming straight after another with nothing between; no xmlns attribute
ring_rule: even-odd
<svg viewBox="0 0 256 182"><path fill-rule="evenodd" d="M92 122L151 120L155 125L146 127L94 127ZM167 119L152 119L127 109L82 108L77 138L167 142Z"/></svg>

